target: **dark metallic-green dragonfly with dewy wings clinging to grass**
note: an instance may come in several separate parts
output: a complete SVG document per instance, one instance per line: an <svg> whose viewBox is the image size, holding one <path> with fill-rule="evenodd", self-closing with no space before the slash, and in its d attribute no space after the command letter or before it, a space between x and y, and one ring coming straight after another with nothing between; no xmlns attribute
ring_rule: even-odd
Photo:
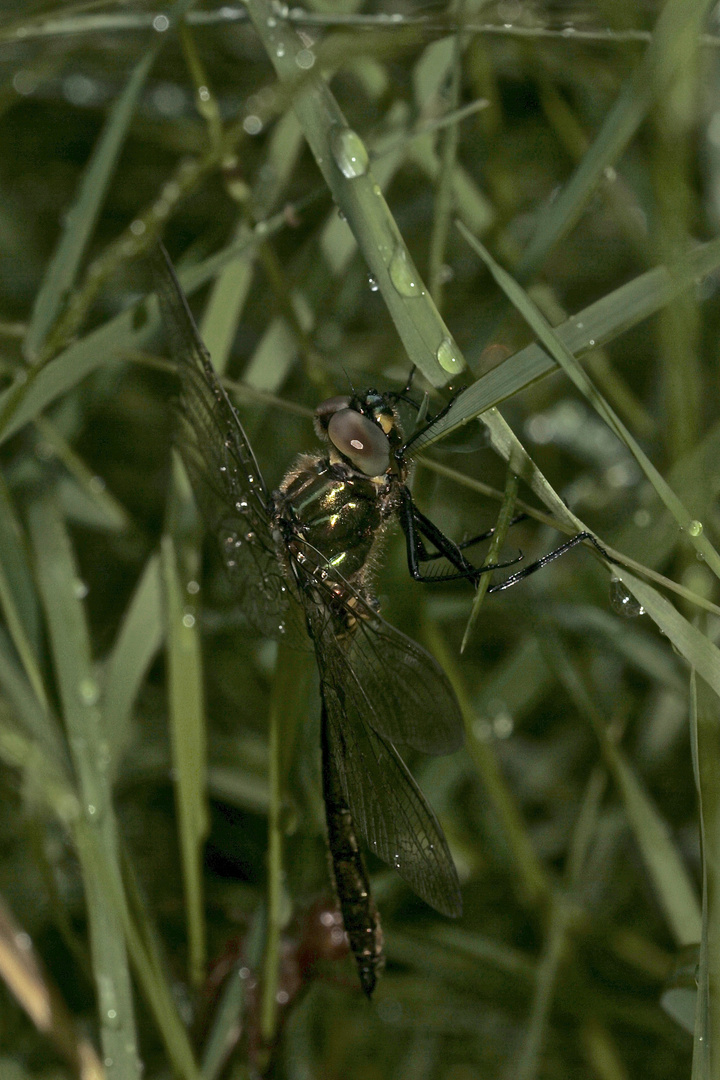
<svg viewBox="0 0 720 1080"><path fill-rule="evenodd" d="M397 405L409 400L407 387L320 404L314 426L323 449L300 455L277 490L268 490L164 248L154 269L180 383L176 443L201 514L248 621L274 638L299 631L314 648L332 877L369 998L384 959L361 837L436 912L462 913L446 837L397 748L431 755L459 750L460 705L435 658L382 618L373 570L392 522L399 522L418 581L475 583L498 566L475 567L464 554L488 534L456 544L416 507L410 451L430 422L404 436Z"/></svg>

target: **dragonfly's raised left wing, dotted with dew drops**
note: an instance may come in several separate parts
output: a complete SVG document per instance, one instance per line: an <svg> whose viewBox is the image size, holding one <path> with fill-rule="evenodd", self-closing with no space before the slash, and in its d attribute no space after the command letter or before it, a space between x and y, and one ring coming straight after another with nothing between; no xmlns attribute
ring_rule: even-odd
<svg viewBox="0 0 720 1080"><path fill-rule="evenodd" d="M180 379L177 447L244 612L262 634L276 637L286 627L289 595L273 542L264 482L162 247L154 269L165 334Z"/></svg>

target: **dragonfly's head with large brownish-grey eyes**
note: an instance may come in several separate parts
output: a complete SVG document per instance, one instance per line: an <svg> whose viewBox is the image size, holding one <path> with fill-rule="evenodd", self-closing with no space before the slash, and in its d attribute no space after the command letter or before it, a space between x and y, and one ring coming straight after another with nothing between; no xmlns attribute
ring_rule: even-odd
<svg viewBox="0 0 720 1080"><path fill-rule="evenodd" d="M393 450L403 443L394 403L377 390L321 402L315 409L315 430L366 476L386 473L394 460Z"/></svg>

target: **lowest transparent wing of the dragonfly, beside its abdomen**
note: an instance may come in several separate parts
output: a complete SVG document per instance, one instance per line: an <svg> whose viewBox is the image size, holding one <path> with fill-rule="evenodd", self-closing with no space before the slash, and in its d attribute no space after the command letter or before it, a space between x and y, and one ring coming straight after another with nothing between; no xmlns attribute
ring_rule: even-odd
<svg viewBox="0 0 720 1080"><path fill-rule="evenodd" d="M460 915L460 882L447 840L399 754L349 706L342 686L326 673L321 690L330 754L358 832L425 903L443 915Z"/></svg>

